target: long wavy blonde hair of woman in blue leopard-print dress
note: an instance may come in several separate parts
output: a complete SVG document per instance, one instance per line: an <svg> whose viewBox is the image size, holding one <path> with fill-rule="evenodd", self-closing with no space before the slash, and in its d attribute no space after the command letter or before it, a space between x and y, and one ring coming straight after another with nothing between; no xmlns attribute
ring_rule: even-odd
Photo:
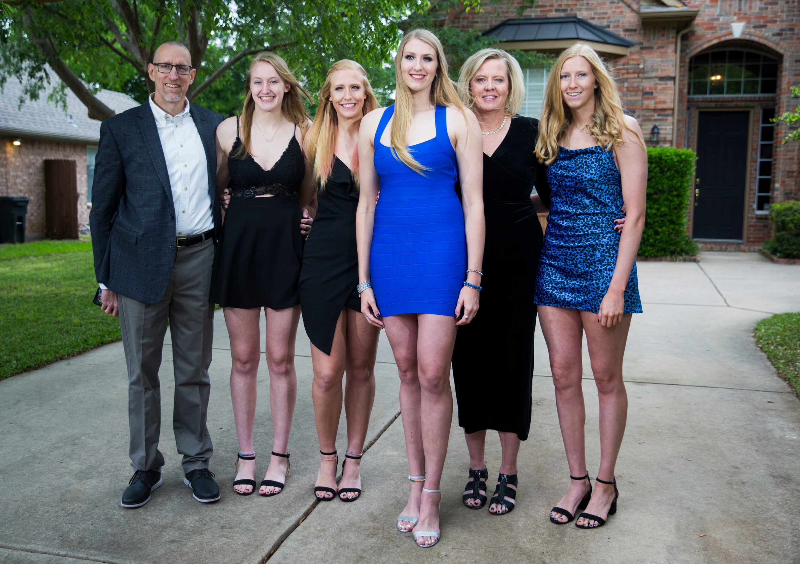
<svg viewBox="0 0 800 564"><path fill-rule="evenodd" d="M585 43L575 43L558 56L550 78L547 79L542 119L539 120L539 137L534 151L539 162L547 165L554 162L558 156L558 142L572 125L572 111L562 97L561 70L566 60L573 57L585 58L594 73L597 88L594 89L594 114L588 130L598 145L606 151L614 149L614 146L624 145L622 132L628 130L644 146L644 141L625 122L617 84L606 70L597 51Z"/></svg>

